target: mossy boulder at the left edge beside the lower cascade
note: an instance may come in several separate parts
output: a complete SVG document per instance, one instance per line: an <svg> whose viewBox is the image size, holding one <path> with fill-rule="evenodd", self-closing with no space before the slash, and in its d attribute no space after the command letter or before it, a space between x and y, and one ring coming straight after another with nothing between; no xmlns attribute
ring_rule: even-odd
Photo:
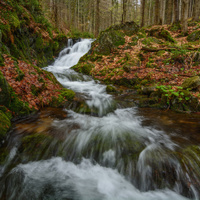
<svg viewBox="0 0 200 200"><path fill-rule="evenodd" d="M7 131L11 126L10 119L0 110L0 141L5 138Z"/></svg>

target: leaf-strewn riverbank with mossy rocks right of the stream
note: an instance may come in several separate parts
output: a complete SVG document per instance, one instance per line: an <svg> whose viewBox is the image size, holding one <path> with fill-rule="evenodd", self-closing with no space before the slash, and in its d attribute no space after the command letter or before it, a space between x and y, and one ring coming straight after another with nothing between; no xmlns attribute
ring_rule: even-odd
<svg viewBox="0 0 200 200"><path fill-rule="evenodd" d="M92 75L119 93L137 90L140 107L200 111L200 23L140 29L134 22L102 32L73 69ZM122 87L123 86L123 87ZM125 89L125 88L127 89Z"/></svg>

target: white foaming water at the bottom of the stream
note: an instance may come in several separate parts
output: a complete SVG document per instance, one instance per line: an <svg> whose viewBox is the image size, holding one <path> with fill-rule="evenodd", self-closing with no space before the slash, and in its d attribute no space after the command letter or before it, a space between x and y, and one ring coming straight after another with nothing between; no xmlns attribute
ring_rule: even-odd
<svg viewBox="0 0 200 200"><path fill-rule="evenodd" d="M11 176L15 174L23 174L15 200L39 199L41 194L43 199L59 200L187 199L169 189L140 192L116 170L94 165L86 159L79 165L61 158L21 164L12 170Z"/></svg>

